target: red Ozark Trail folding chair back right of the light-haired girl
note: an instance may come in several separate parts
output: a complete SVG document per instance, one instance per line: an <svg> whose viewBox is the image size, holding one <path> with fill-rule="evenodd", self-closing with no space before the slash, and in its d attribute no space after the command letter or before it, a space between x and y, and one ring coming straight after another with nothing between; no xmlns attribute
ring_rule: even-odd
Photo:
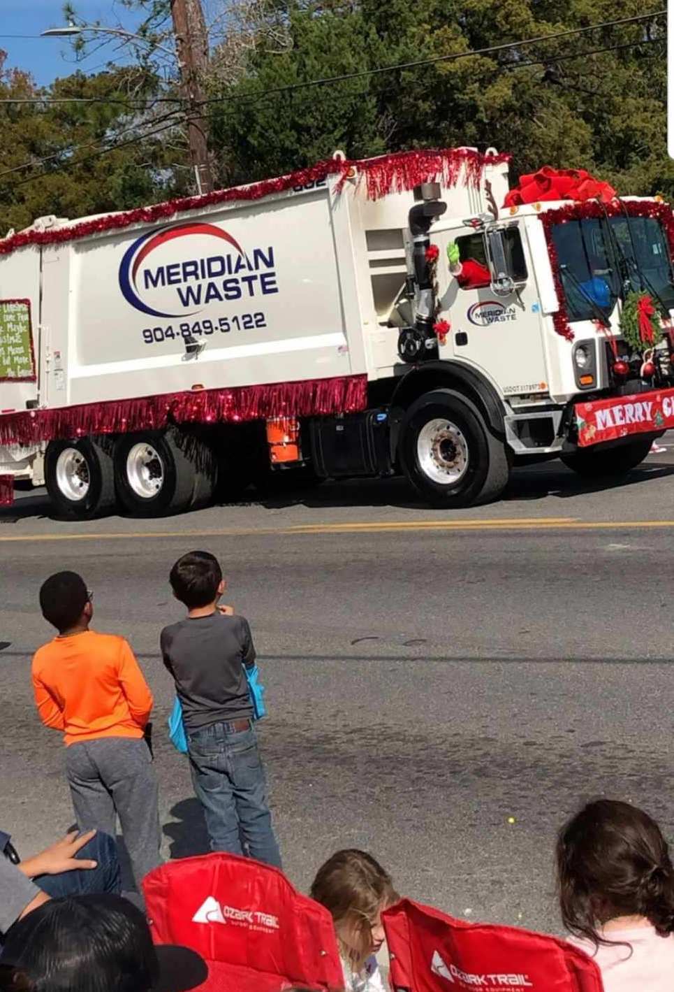
<svg viewBox="0 0 674 992"><path fill-rule="evenodd" d="M600 970L565 940L469 924L409 899L382 914L393 992L603 992Z"/></svg>

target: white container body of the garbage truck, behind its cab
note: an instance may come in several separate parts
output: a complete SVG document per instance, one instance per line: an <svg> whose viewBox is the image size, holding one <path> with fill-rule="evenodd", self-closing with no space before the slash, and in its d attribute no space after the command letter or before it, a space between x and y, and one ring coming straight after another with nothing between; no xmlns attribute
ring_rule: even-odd
<svg viewBox="0 0 674 992"><path fill-rule="evenodd" d="M487 176L506 192L506 167ZM391 371L397 337L380 320L404 283L411 194L373 202L361 186L335 193L336 182L0 256L0 299L31 301L40 353L35 387L3 384L2 408ZM443 195L457 216L484 208L481 190ZM185 361L179 327L204 320L215 329Z"/></svg>

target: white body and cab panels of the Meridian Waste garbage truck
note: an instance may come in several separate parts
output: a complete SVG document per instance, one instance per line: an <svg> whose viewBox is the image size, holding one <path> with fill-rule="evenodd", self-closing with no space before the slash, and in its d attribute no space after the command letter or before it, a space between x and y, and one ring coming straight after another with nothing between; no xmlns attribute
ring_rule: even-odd
<svg viewBox="0 0 674 992"><path fill-rule="evenodd" d="M409 293L403 299L414 196L369 199L352 172L339 190L338 177L326 177L119 229L103 216L103 229L85 237L67 239L75 225L97 218L37 221L36 230L65 239L0 254L0 303L30 302L36 365L33 382L0 381L0 438L3 418L30 410L190 391L365 376L371 387L390 383L393 396L410 371L398 354L398 332L414 322L414 300ZM498 398L511 460L532 453L517 429L520 410L553 429L533 453L562 451L568 438L561 419L579 385L572 345L553 326L560 301L541 223L546 210L566 204L492 218L493 229L519 232L526 278L511 293L495 296L494 283L462 289L448 270L447 246L484 230L485 211L503 203L507 188L504 163L487 165L477 186L460 177L441 187L447 209L430 236L440 253L436 316L451 323L434 344L434 360L459 376L471 371ZM479 215L483 228L467 226ZM617 301L610 326L574 324L577 339L595 342L599 355L593 396L612 387L602 354L618 337L618 317ZM26 445L10 437L0 446L0 475L42 482L50 440Z"/></svg>

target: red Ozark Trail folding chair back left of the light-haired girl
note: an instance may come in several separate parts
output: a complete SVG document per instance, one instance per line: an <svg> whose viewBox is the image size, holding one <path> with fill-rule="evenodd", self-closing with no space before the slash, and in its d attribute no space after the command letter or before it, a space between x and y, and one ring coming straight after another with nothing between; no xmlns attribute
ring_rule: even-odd
<svg viewBox="0 0 674 992"><path fill-rule="evenodd" d="M277 868L234 854L170 861L143 882L155 943L208 964L203 992L344 986L332 918Z"/></svg>

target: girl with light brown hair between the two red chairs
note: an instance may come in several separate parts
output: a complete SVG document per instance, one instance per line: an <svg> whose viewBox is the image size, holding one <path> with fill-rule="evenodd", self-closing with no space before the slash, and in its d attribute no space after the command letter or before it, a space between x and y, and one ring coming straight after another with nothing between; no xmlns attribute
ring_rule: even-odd
<svg viewBox="0 0 674 992"><path fill-rule="evenodd" d="M337 851L318 869L310 894L334 921L346 992L384 992L376 955L385 937L382 913L398 898L391 875L365 851Z"/></svg>

